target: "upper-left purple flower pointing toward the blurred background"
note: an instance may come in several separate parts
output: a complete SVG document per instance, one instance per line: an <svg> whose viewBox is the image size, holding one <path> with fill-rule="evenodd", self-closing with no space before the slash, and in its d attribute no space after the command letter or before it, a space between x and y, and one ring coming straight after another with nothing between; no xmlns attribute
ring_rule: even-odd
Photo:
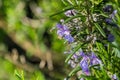
<svg viewBox="0 0 120 80"><path fill-rule="evenodd" d="M70 31L67 26L57 24L57 34L59 37L63 37L65 40L67 40L69 43L74 42L74 38L71 36Z"/></svg>

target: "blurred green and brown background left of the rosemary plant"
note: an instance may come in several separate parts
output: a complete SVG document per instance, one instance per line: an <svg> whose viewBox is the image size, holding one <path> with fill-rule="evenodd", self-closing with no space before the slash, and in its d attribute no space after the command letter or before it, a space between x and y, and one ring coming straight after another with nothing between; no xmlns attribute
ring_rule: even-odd
<svg viewBox="0 0 120 80"><path fill-rule="evenodd" d="M60 0L0 0L0 80L63 80L64 44L53 30ZM24 79L21 79L24 77Z"/></svg>

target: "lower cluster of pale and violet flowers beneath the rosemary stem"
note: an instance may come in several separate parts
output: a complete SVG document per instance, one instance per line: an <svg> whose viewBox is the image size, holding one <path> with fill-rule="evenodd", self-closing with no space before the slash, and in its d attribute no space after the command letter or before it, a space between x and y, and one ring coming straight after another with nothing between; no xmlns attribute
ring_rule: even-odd
<svg viewBox="0 0 120 80"><path fill-rule="evenodd" d="M80 59L80 61L79 61ZM85 75L90 75L89 68L94 65L101 65L101 60L92 52L89 55L85 54L83 51L77 51L68 62L73 68L78 64L80 65L83 73ZM97 66L96 66L97 67ZM94 68L96 68L94 67ZM97 67L98 68L98 67Z"/></svg>

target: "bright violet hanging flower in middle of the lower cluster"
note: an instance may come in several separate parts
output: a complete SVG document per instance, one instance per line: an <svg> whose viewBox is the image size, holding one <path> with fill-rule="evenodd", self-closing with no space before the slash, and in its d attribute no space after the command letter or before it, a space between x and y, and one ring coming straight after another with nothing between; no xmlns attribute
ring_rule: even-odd
<svg viewBox="0 0 120 80"><path fill-rule="evenodd" d="M82 71L86 75L90 75L89 65L88 65L88 57L87 56L84 56L83 59L81 60L80 67L82 68Z"/></svg>

